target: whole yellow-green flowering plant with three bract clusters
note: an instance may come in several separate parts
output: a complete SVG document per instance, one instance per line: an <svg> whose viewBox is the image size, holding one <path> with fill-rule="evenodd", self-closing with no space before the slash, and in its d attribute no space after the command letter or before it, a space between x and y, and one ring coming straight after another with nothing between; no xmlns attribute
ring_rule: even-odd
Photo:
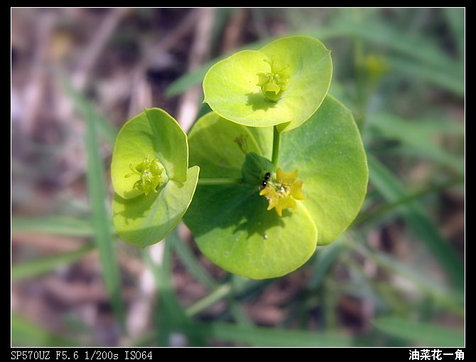
<svg viewBox="0 0 476 362"><path fill-rule="evenodd" d="M328 94L331 76L319 40L281 38L210 68L212 112L188 137L159 109L131 119L112 159L119 235L147 246L183 217L200 251L232 273L274 278L303 265L347 229L367 191L362 140Z"/></svg>

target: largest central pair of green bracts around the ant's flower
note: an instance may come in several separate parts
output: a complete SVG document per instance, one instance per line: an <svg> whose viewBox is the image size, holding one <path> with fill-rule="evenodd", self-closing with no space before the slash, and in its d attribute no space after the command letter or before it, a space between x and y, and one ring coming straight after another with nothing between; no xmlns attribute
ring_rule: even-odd
<svg viewBox="0 0 476 362"><path fill-rule="evenodd" d="M247 135L248 152L269 158L272 128L233 124L214 113L190 132L190 164L202 177L240 177L244 153L234 139ZM222 152L225 150L225 153ZM185 224L214 263L248 278L274 278L303 265L318 245L342 234L367 190L367 160L352 114L331 96L301 127L281 136L278 166L298 170L307 198L297 212L268 211L258 185L199 186Z"/></svg>

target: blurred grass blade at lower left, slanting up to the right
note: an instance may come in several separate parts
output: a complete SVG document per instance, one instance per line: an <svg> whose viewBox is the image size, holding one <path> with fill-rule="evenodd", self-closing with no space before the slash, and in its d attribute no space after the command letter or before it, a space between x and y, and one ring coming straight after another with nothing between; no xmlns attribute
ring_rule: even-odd
<svg viewBox="0 0 476 362"><path fill-rule="evenodd" d="M92 249L93 246L85 246L75 251L60 253L55 256L49 256L48 258L13 264L11 265L11 280L34 278L38 275L43 275L62 265L74 263L84 258Z"/></svg>

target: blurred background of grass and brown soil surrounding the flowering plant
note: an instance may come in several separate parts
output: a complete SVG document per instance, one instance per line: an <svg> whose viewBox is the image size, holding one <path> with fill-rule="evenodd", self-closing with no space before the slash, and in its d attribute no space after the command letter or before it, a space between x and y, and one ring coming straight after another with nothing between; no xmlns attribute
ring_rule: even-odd
<svg viewBox="0 0 476 362"><path fill-rule="evenodd" d="M14 346L463 346L464 9L12 9ZM208 67L286 34L332 50L369 160L362 211L283 278L180 225L114 234L109 163L144 107L188 130Z"/></svg>

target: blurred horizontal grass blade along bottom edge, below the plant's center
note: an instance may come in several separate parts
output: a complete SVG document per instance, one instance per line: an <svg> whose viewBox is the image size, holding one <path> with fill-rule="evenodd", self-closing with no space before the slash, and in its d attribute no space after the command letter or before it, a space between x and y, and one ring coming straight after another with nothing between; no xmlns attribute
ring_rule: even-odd
<svg viewBox="0 0 476 362"><path fill-rule="evenodd" d="M255 346L328 347L352 346L352 340L338 334L323 334L291 329L246 327L222 322L195 323L188 327L191 334L206 339L237 342Z"/></svg>

